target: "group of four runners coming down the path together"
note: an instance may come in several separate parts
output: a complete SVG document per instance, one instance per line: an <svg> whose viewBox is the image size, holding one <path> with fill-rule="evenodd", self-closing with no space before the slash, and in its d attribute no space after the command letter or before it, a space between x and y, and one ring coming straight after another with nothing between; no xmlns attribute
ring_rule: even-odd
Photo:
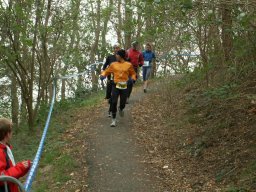
<svg viewBox="0 0 256 192"><path fill-rule="evenodd" d="M100 75L101 80L107 78L106 99L109 101L108 115L112 116L111 127L116 126L117 111L121 117L124 116L124 108L129 102L133 85L139 78L140 67L143 74L143 91L147 92L148 79L156 58L149 43L143 52L139 50L140 45L137 41L134 41L127 51L121 49L119 45L114 45L113 49L114 53L106 58ZM120 104L117 109L118 98Z"/></svg>

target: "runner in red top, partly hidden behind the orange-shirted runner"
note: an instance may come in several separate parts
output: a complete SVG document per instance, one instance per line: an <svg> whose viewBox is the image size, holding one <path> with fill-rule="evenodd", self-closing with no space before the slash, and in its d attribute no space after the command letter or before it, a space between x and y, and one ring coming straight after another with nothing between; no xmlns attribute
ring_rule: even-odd
<svg viewBox="0 0 256 192"><path fill-rule="evenodd" d="M132 47L127 51L127 58L132 63L133 68L137 74L136 78L139 78L139 70L138 67L143 65L143 55L139 51L139 42L134 41L132 43ZM133 83L131 81L128 82L128 99L132 93ZM127 99L127 103L128 103Z"/></svg>

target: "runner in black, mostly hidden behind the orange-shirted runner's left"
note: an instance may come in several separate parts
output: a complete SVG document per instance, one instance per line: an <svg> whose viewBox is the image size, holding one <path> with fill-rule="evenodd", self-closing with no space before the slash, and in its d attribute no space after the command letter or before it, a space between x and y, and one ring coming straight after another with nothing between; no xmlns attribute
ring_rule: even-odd
<svg viewBox="0 0 256 192"><path fill-rule="evenodd" d="M120 50L120 46L118 44L113 46L114 54L109 55L106 58L106 62L104 63L104 65L102 67L103 71L106 70L106 68L108 68L111 63L116 61L116 55L115 54L119 50ZM112 89L112 84L113 84L113 75L110 74L107 77L107 89L106 89L106 97L105 97L105 99L108 99L108 103L109 103L109 110L108 110L108 116L109 117L111 117L111 89Z"/></svg>

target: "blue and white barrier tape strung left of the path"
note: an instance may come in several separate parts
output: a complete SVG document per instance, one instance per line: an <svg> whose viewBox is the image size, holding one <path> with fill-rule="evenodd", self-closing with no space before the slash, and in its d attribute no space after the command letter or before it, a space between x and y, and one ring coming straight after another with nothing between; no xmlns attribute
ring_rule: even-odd
<svg viewBox="0 0 256 192"><path fill-rule="evenodd" d="M86 67L92 68L92 67L96 67L96 65L98 65L98 64L103 64L103 62L93 63L93 64L90 64L90 65L87 65ZM82 72L82 73L78 73L78 74L58 77L53 81L53 96L52 96L52 100L51 100L51 105L50 105L50 109L49 109L49 112L48 112L48 117L47 117L47 120L46 120L46 123L45 123L43 135L42 135L42 138L41 138L36 156L33 160L31 169L29 171L28 177L27 177L25 185L24 185L24 189L25 189L26 192L29 192L31 190L32 182L35 178L35 174L36 174L36 171L37 171L37 168L38 168L39 160L40 160L42 152L43 152L44 142L45 142L45 139L46 139L46 135L47 135L47 131L48 131L48 128L49 128L51 115L52 115L52 111L53 111L53 107L54 107L54 103L55 103L57 79L69 79L69 78L73 78L73 77L76 77L76 76L79 76L79 75L83 75L86 72L87 71Z"/></svg>

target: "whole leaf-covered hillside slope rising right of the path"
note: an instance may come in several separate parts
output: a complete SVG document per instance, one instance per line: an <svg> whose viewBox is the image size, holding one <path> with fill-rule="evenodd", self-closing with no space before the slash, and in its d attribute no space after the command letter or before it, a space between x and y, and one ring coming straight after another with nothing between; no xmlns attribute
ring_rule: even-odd
<svg viewBox="0 0 256 192"><path fill-rule="evenodd" d="M220 97L165 79L134 108L134 133L165 188L256 191L256 87L246 86Z"/></svg>

